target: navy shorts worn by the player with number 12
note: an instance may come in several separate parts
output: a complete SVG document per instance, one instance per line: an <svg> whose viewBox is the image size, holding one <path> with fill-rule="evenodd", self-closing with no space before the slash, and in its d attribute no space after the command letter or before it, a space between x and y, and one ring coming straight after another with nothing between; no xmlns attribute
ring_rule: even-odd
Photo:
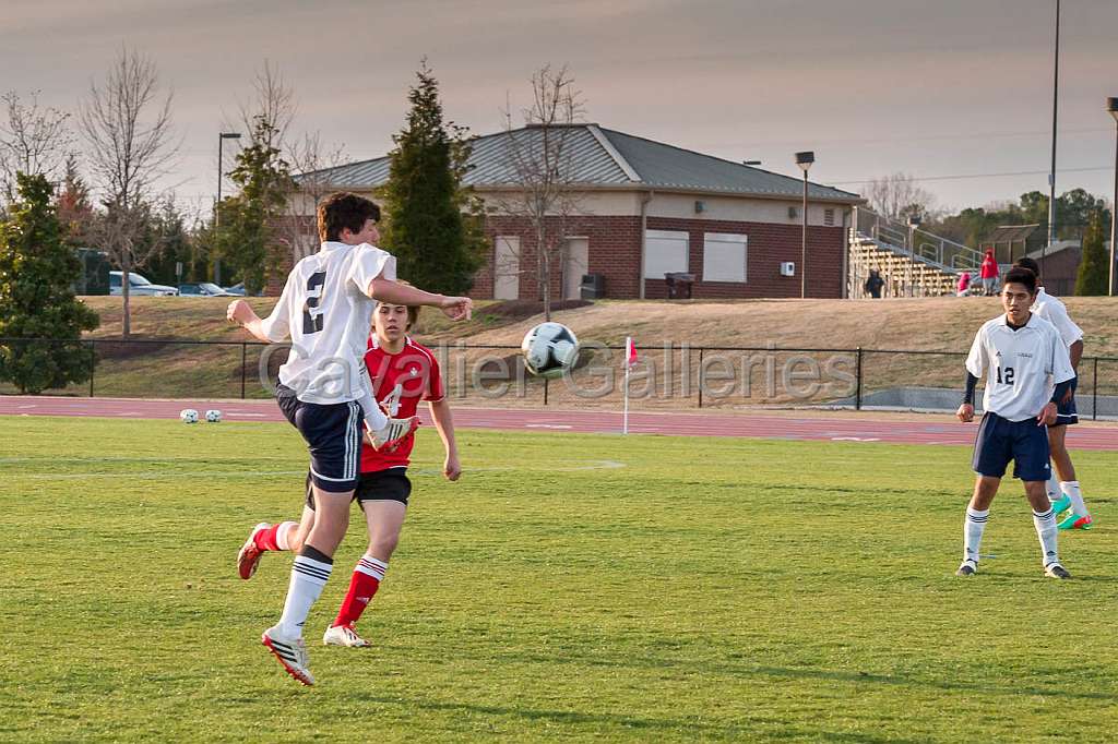
<svg viewBox="0 0 1118 744"><path fill-rule="evenodd" d="M1013 460L1013 477L1022 480L1048 480L1048 427L1036 426L1036 419L1010 421L997 413L986 413L978 425L975 439L974 471L1001 478Z"/></svg>

